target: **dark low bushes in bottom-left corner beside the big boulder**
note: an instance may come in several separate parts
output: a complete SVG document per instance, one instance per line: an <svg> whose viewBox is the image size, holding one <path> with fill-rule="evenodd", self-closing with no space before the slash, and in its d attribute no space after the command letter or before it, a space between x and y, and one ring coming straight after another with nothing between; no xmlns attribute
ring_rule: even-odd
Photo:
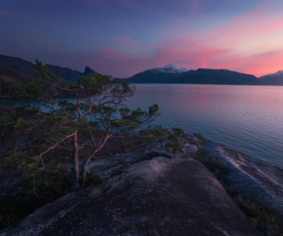
<svg viewBox="0 0 283 236"><path fill-rule="evenodd" d="M0 229L10 226L39 207L70 192L70 171L53 164L36 172L0 197Z"/></svg>

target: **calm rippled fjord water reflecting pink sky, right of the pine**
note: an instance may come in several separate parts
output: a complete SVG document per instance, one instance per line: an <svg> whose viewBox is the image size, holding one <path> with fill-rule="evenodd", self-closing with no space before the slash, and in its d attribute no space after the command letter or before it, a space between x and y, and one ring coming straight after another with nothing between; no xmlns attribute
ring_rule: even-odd
<svg viewBox="0 0 283 236"><path fill-rule="evenodd" d="M134 85L136 94L128 106L146 109L158 104L161 115L155 124L200 132L208 140L283 168L283 86Z"/></svg>

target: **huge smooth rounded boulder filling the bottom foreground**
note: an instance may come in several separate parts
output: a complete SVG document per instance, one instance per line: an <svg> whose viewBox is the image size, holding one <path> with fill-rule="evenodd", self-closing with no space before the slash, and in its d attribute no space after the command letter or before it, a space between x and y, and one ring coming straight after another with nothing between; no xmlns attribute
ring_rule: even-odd
<svg viewBox="0 0 283 236"><path fill-rule="evenodd" d="M47 204L1 236L258 235L221 184L192 158L156 157Z"/></svg>

